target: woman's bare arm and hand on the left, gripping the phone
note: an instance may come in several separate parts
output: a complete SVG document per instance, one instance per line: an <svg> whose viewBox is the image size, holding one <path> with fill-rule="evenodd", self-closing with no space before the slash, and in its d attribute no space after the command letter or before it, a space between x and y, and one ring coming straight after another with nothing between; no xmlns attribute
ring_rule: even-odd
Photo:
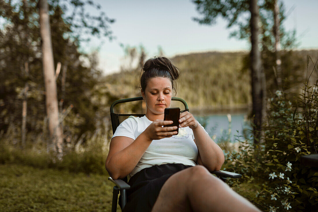
<svg viewBox="0 0 318 212"><path fill-rule="evenodd" d="M114 137L109 145L106 159L106 170L113 179L126 177L137 165L152 140L169 138L176 134L177 127L161 127L172 124L172 121L156 120L147 127L135 140L125 136Z"/></svg>

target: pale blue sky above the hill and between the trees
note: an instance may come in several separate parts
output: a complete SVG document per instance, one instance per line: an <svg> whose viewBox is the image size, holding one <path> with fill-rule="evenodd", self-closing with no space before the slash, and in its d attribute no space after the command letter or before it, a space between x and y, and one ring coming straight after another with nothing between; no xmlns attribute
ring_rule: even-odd
<svg viewBox="0 0 318 212"><path fill-rule="evenodd" d="M249 51L247 40L229 38L235 28L218 18L215 25L199 25L201 17L196 5L189 0L95 0L101 11L115 22L110 29L116 39L92 38L83 45L85 52L99 49L100 69L104 74L118 72L125 62L120 46L144 46L147 58L158 55L158 46L167 57L177 54L206 51ZM318 48L318 0L283 0L289 14L284 27L296 29L299 49ZM96 12L87 8L88 11Z"/></svg>

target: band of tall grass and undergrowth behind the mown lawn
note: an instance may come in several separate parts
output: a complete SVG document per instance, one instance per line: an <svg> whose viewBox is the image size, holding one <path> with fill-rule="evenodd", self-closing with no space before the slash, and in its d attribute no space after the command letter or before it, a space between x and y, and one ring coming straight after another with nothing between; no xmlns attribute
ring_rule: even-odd
<svg viewBox="0 0 318 212"><path fill-rule="evenodd" d="M56 168L70 172L107 174L105 161L107 144L104 136L95 131L87 136L85 144L64 146L63 159L57 159L56 153L48 152L45 145L27 145L25 149L13 145L6 137L0 142L0 163L17 163L37 168Z"/></svg>

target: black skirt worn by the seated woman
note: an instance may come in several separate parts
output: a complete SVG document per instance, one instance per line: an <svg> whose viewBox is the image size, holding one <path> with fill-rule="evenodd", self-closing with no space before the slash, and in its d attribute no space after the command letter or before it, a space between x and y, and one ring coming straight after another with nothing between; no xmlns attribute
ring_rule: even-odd
<svg viewBox="0 0 318 212"><path fill-rule="evenodd" d="M151 211L163 184L168 178L192 166L183 164L162 164L144 168L132 176L128 182L127 203L123 211ZM121 206L121 198L119 198Z"/></svg>

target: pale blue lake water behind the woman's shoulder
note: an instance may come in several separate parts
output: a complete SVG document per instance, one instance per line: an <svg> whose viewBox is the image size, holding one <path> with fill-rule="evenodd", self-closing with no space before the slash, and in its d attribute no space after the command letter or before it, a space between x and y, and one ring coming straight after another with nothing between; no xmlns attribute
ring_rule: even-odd
<svg viewBox="0 0 318 212"><path fill-rule="evenodd" d="M196 116L195 118L200 124L205 125L204 129L217 143L224 140L232 143L236 142L235 138L237 137L234 137L234 135L249 136L249 130L252 129L247 121L246 113L231 114L229 116L227 114L215 114L204 117ZM229 128L231 129L230 131Z"/></svg>

